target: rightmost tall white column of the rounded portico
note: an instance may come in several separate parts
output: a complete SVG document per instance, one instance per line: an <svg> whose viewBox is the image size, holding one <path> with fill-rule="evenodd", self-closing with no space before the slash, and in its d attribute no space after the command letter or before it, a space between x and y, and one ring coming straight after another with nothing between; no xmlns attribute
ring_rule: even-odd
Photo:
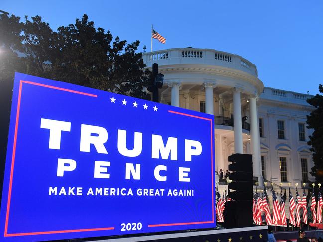
<svg viewBox="0 0 323 242"><path fill-rule="evenodd" d="M250 105L250 135L251 135L253 176L258 177L259 185L262 186L263 178L261 174L259 123L258 123L257 103L256 103L255 96L250 97L249 105Z"/></svg>

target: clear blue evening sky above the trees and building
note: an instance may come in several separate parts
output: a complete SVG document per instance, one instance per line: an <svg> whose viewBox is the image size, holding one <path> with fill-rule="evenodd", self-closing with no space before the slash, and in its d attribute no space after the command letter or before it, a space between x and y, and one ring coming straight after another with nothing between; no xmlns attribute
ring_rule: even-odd
<svg viewBox="0 0 323 242"><path fill-rule="evenodd" d="M1 0L0 10L39 15L53 30L83 14L96 27L150 51L206 48L254 63L266 87L315 95L323 84L322 0Z"/></svg>

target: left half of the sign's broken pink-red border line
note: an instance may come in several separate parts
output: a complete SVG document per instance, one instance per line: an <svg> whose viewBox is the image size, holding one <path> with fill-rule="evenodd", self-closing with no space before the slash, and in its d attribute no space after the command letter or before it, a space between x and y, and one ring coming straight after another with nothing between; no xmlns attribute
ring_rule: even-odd
<svg viewBox="0 0 323 242"><path fill-rule="evenodd" d="M61 87L57 87L57 86L40 84L40 83L36 83L36 82L32 82L32 81L23 81L23 80L20 80L20 83L19 83L19 94L18 94L18 104L17 104L17 114L16 114L16 124L15 124L15 128L14 128L14 139L13 139L11 171L10 171L10 180L9 180L8 203L7 203L7 211L6 211L6 216L5 216L4 237L24 236L24 235L59 234L59 233L69 233L69 232L84 232L84 231L114 230L114 227L107 227L107 228L92 228L92 229L78 229L78 230L57 230L57 231L40 231L40 232L11 233L11 234L8 234L8 222L9 222L11 190L12 190L12 179L13 179L14 160L15 160L15 153L16 153L18 124L19 124L19 113L20 113L22 83L31 84L31 85L37 85L37 86L42 86L42 87L56 89L56 90L60 90L60 91L67 91L67 92L76 93L76 94L85 95L85 96L98 97L97 95L89 94L89 93L85 93L85 92L74 91L74 90L65 89L65 88L61 88Z"/></svg>

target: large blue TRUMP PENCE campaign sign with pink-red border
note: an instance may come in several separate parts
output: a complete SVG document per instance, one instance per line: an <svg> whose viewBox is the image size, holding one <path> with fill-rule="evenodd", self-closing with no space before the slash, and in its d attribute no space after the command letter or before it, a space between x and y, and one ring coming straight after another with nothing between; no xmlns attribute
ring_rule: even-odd
<svg viewBox="0 0 323 242"><path fill-rule="evenodd" d="M213 116L16 73L0 241L215 227Z"/></svg>

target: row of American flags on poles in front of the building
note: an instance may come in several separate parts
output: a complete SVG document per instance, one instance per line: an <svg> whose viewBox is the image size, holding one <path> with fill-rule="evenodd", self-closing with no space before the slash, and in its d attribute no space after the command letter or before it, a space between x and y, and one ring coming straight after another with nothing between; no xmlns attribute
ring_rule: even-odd
<svg viewBox="0 0 323 242"><path fill-rule="evenodd" d="M296 188L296 199L294 199L290 188L289 190L289 223L290 225L300 227L301 222L304 224L308 223L307 213L308 205L310 205L310 210L313 217L313 223L322 223L322 207L323 200L321 192L319 191L317 201L312 192L311 200L309 204L306 201L305 189L303 189L302 198L299 196L298 190ZM272 191L272 212L270 211L269 198L266 192L266 188L263 193L257 192L257 189L253 197L252 205L252 215L253 221L257 225L262 224L261 215L265 216L267 225L279 225L287 226L287 218L285 213L285 199L286 199L286 190L283 195L282 189L280 189L280 201L276 196L275 190ZM223 211L225 209L225 204L231 199L228 197L225 190L225 194L221 197L218 189L216 191L216 220L217 222L224 222Z"/></svg>

